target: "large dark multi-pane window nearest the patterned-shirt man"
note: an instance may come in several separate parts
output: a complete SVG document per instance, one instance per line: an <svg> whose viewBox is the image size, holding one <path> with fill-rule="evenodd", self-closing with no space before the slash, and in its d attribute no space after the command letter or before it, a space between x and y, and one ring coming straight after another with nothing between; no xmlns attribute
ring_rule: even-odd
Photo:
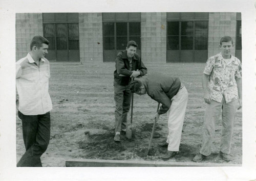
<svg viewBox="0 0 256 181"><path fill-rule="evenodd" d="M166 62L205 62L208 57L209 13L166 14Z"/></svg>

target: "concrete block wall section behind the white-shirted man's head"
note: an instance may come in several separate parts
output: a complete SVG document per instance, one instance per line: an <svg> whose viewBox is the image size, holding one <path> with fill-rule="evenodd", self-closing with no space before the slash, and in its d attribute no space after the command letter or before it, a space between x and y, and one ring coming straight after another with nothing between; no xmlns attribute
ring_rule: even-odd
<svg viewBox="0 0 256 181"><path fill-rule="evenodd" d="M43 36L42 13L16 13L16 61L30 51L30 41L36 36Z"/></svg>

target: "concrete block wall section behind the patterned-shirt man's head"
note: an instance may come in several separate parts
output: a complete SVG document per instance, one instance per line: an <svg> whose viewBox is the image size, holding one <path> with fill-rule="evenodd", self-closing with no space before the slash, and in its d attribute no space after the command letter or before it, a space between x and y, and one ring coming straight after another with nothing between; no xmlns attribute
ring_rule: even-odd
<svg viewBox="0 0 256 181"><path fill-rule="evenodd" d="M218 12L209 13L208 57L220 53L220 39L230 36L236 43L237 13ZM231 53L235 54L235 47Z"/></svg>

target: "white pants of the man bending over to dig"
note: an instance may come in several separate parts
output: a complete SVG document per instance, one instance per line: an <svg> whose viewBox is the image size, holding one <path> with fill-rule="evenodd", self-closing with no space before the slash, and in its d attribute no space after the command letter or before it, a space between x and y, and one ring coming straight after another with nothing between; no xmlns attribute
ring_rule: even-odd
<svg viewBox="0 0 256 181"><path fill-rule="evenodd" d="M187 107L187 90L185 86L171 99L172 105L167 112L168 120L168 151L179 151L182 126Z"/></svg>

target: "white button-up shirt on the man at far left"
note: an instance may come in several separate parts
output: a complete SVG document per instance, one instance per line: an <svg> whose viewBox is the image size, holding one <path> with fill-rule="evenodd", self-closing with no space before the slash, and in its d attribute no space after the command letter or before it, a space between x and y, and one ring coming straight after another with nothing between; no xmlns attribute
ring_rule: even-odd
<svg viewBox="0 0 256 181"><path fill-rule="evenodd" d="M50 64L40 59L39 66L28 54L16 62L16 88L19 95L18 110L24 115L40 115L52 110L48 93Z"/></svg>

